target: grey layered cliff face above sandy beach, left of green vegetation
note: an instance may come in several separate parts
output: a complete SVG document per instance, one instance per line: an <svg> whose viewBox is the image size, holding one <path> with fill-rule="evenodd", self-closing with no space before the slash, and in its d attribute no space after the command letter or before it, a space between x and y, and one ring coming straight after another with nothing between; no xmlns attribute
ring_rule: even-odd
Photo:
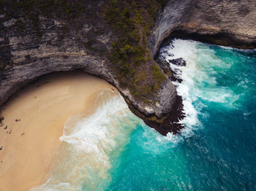
<svg viewBox="0 0 256 191"><path fill-rule="evenodd" d="M39 16L37 30L24 17L0 15L1 67L4 67L0 104L20 87L53 71L83 69L113 82L105 56L99 56L109 51L111 33L108 28L101 31L102 23L84 19L84 23L74 25L79 29L71 32L65 31L69 23L61 19Z"/></svg>

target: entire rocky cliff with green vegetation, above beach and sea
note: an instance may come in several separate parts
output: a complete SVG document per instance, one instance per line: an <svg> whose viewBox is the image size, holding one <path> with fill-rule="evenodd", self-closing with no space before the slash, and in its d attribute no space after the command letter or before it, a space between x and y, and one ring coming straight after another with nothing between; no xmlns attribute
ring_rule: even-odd
<svg viewBox="0 0 256 191"><path fill-rule="evenodd" d="M81 69L159 133L178 133L182 101L153 59L159 47L173 36L255 47L253 1L60 2L1 1L0 105L43 74Z"/></svg>

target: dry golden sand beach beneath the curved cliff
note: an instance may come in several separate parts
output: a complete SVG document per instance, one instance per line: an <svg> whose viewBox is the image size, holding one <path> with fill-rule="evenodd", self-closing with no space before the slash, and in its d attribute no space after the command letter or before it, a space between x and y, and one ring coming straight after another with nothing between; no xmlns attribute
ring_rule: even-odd
<svg viewBox="0 0 256 191"><path fill-rule="evenodd" d="M46 181L64 123L90 114L102 90L115 87L82 71L48 74L20 90L1 111L0 190L29 190Z"/></svg>

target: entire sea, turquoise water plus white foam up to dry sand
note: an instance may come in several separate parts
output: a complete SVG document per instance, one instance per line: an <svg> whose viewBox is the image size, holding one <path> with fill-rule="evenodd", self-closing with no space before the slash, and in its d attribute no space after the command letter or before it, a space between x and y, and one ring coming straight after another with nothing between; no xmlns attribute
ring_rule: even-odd
<svg viewBox="0 0 256 191"><path fill-rule="evenodd" d="M31 190L256 190L256 50L174 39L162 47L183 79L186 128L161 136L102 91L71 117L48 181Z"/></svg>

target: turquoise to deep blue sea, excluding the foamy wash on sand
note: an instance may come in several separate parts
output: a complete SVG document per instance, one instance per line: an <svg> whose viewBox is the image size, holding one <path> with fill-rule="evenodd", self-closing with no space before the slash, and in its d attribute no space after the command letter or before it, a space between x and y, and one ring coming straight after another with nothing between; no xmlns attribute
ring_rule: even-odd
<svg viewBox="0 0 256 191"><path fill-rule="evenodd" d="M256 51L183 40L173 45L163 55L192 65L180 67L189 91L181 95L192 101L195 110L187 113L197 119L187 119L193 127L170 141L139 125L108 190L256 190Z"/></svg>

